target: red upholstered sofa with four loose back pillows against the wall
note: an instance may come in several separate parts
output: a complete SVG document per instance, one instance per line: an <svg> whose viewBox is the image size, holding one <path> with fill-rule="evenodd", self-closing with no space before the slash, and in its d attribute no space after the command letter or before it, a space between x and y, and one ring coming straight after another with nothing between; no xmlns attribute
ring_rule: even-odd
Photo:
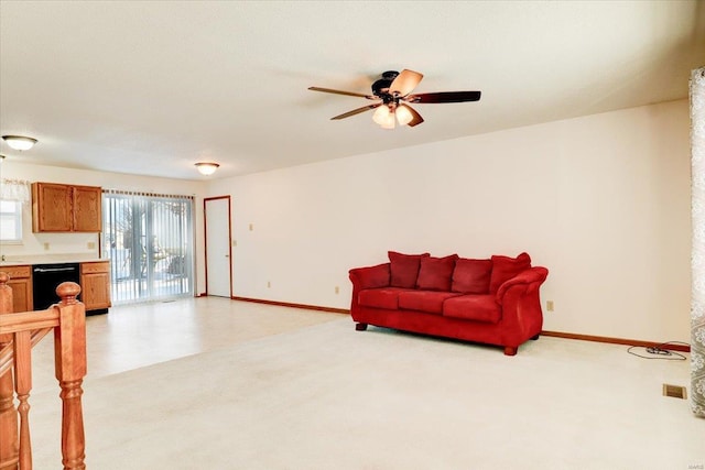
<svg viewBox="0 0 705 470"><path fill-rule="evenodd" d="M539 287L549 275L531 258L389 253L389 262L349 271L350 314L368 325L502 346L514 356L543 325Z"/></svg>

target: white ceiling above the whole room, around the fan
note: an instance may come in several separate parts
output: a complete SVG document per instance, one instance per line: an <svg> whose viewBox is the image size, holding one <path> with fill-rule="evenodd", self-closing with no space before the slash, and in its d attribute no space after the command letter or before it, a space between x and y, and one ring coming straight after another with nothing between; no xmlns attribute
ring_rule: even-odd
<svg viewBox="0 0 705 470"><path fill-rule="evenodd" d="M225 177L687 97L705 65L705 1L0 2L0 132L40 141L8 160L175 178ZM382 130L390 69L425 122Z"/></svg>

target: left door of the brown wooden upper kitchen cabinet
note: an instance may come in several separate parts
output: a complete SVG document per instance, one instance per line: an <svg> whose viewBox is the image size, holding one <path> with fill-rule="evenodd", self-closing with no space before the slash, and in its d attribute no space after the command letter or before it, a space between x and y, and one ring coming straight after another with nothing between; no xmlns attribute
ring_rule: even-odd
<svg viewBox="0 0 705 470"><path fill-rule="evenodd" d="M32 231L72 231L73 190L68 185L53 183L32 184Z"/></svg>

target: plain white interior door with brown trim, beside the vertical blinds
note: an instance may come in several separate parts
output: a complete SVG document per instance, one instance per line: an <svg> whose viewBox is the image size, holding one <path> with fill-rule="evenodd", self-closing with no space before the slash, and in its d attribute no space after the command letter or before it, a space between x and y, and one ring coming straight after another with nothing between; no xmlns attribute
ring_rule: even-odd
<svg viewBox="0 0 705 470"><path fill-rule="evenodd" d="M206 294L232 296L230 258L230 196L204 199Z"/></svg>

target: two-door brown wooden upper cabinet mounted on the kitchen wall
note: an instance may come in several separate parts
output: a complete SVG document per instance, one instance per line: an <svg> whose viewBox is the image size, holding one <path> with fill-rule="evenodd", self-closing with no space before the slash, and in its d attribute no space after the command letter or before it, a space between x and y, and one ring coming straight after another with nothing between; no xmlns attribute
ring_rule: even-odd
<svg viewBox="0 0 705 470"><path fill-rule="evenodd" d="M33 232L99 232L102 189L57 183L32 183Z"/></svg>

